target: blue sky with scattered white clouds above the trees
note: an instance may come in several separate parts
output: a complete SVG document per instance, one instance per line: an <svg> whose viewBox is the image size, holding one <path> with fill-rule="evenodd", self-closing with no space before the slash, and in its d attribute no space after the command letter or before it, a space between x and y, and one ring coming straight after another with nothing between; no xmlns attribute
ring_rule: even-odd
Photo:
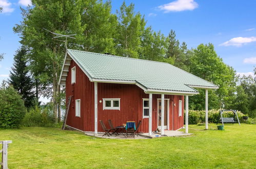
<svg viewBox="0 0 256 169"><path fill-rule="evenodd" d="M18 49L19 37L12 28L21 17L19 6L29 0L0 0L4 12L0 14L0 82L8 78L13 55ZM123 1L112 0L112 12ZM135 11L145 15L147 26L168 35L175 30L176 37L185 41L189 48L212 43L224 62L237 72L252 74L256 66L256 1L231 0L176 0L176 1L126 1L135 4Z"/></svg>

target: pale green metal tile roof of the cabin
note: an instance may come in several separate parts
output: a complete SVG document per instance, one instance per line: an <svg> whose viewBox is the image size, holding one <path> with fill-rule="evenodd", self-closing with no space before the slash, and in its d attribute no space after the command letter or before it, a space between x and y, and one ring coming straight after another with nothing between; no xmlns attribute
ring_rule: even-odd
<svg viewBox="0 0 256 169"><path fill-rule="evenodd" d="M68 49L68 54L92 81L135 81L146 90L198 93L190 86L218 88L200 77L165 62Z"/></svg>

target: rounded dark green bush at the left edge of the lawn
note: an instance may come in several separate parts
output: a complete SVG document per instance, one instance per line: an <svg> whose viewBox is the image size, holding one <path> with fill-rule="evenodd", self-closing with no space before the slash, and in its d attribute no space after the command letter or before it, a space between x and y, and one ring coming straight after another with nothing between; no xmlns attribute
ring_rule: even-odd
<svg viewBox="0 0 256 169"><path fill-rule="evenodd" d="M22 97L12 86L0 88L0 128L18 128L26 113Z"/></svg>

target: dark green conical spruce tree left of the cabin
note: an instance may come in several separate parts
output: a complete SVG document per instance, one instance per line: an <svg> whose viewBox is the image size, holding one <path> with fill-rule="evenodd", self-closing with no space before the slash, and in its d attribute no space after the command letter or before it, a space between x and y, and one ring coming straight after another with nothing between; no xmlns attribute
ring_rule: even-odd
<svg viewBox="0 0 256 169"><path fill-rule="evenodd" d="M33 105L35 96L33 92L33 81L27 70L27 61L25 60L26 53L27 51L23 47L16 51L9 83L21 94L25 106L29 108Z"/></svg>

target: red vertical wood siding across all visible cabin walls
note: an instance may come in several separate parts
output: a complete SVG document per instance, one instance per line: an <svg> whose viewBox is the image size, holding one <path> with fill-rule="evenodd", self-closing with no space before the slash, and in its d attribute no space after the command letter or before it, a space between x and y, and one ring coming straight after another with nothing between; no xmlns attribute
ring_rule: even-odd
<svg viewBox="0 0 256 169"><path fill-rule="evenodd" d="M71 85L71 68L76 67L76 80ZM114 126L122 125L126 121L142 120L141 132L148 132L148 118L143 118L143 98L149 94L136 85L98 83L98 120L103 120L109 128L108 119L111 119ZM84 72L72 60L66 80L66 100L72 97L70 111L67 118L67 125L82 131L94 131L94 82L91 82ZM120 110L103 110L103 98L120 98ZM157 129L157 98L161 95L153 94L152 97L152 131ZM184 111L179 117L179 100L184 96L165 95L169 103L169 129L178 130L183 126ZM75 100L81 99L81 117L75 117ZM100 102L100 100L102 102ZM175 106L174 106L175 104ZM174 116L173 116L174 115ZM98 121L98 131L103 132Z"/></svg>

